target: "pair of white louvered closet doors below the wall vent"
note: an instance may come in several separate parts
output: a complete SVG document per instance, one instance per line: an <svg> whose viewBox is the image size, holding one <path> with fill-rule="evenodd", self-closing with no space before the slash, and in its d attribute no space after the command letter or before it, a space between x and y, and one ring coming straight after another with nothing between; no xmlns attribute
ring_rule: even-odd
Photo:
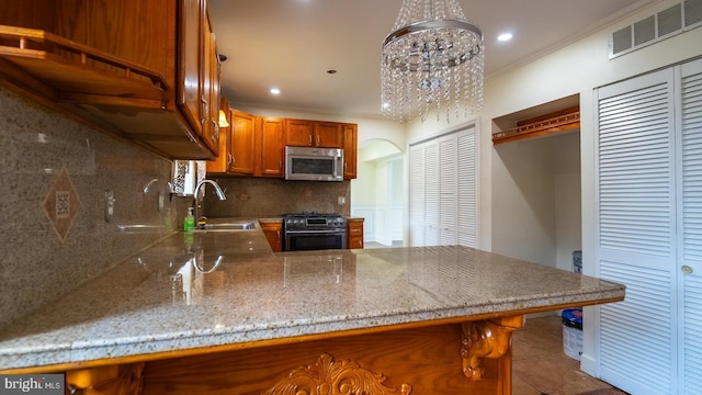
<svg viewBox="0 0 702 395"><path fill-rule="evenodd" d="M633 394L700 394L702 60L598 90L601 379Z"/></svg>

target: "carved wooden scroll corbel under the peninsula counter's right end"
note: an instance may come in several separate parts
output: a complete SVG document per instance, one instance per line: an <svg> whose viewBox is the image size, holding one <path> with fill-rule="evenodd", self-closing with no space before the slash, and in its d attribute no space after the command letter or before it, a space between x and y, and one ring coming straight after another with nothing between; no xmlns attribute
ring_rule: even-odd
<svg viewBox="0 0 702 395"><path fill-rule="evenodd" d="M461 358L466 377L482 380L482 359L503 357L509 351L512 331L522 326L522 316L502 319L500 324L490 320L461 324Z"/></svg>

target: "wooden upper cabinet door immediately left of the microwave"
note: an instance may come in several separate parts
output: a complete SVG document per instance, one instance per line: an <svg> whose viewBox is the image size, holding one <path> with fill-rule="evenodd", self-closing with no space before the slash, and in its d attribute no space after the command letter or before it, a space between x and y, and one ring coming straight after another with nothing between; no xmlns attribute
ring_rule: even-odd
<svg viewBox="0 0 702 395"><path fill-rule="evenodd" d="M261 119L260 170L257 171L257 176L285 176L285 136L283 126L283 120Z"/></svg>

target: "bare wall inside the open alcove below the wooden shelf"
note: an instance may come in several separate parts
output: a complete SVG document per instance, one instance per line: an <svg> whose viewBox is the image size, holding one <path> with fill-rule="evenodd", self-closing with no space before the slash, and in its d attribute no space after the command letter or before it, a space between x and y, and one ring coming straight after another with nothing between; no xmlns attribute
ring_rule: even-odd
<svg viewBox="0 0 702 395"><path fill-rule="evenodd" d="M573 269L582 236L579 143L576 131L495 147L494 252Z"/></svg>

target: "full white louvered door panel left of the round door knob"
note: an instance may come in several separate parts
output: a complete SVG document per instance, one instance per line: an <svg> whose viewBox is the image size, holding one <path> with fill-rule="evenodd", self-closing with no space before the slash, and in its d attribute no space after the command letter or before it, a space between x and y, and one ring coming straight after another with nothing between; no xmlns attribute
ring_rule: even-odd
<svg viewBox="0 0 702 395"><path fill-rule="evenodd" d="M677 392L672 70L598 90L596 274L626 284L599 308L601 379Z"/></svg>

